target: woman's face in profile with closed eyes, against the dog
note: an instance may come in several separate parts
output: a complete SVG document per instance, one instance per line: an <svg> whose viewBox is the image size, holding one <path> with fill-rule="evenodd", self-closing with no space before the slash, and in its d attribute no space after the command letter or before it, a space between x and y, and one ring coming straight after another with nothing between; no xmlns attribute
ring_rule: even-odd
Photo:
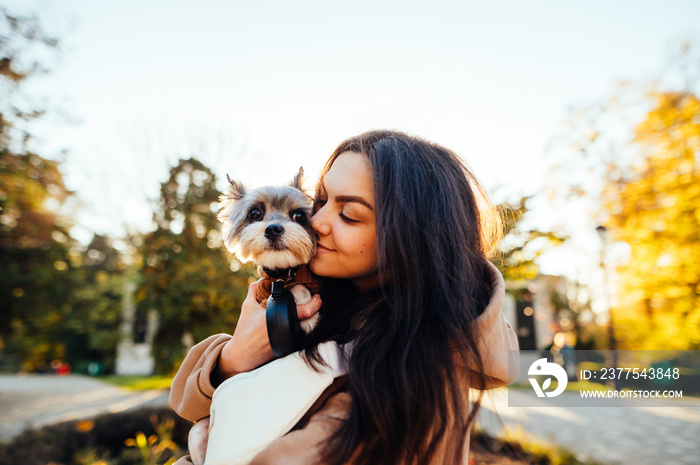
<svg viewBox="0 0 700 465"><path fill-rule="evenodd" d="M321 184L311 225L316 255L311 271L351 279L358 289L377 284L377 227L369 161L355 152L341 153Z"/></svg>

